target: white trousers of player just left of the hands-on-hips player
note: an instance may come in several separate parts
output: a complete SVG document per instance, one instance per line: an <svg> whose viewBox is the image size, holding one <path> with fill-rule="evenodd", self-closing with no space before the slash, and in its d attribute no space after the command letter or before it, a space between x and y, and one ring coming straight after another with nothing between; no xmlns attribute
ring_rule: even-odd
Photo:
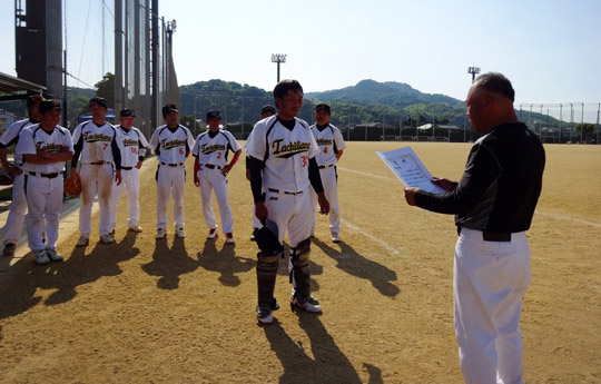
<svg viewBox="0 0 601 384"><path fill-rule="evenodd" d="M167 226L167 204L169 195L174 199L174 225L184 227L184 187L186 169L184 165L169 167L158 166L157 169L157 229Z"/></svg>

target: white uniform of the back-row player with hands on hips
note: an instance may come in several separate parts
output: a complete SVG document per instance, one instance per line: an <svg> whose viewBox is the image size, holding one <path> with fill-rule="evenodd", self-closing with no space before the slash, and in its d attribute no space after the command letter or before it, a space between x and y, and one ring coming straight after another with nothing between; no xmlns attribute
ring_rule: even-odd
<svg viewBox="0 0 601 384"><path fill-rule="evenodd" d="M209 228L217 228L217 219L213 211L213 189L219 205L219 216L225 234L233 233L234 219L227 194L227 179L221 169L227 165L228 151L242 149L236 138L227 130L203 132L196 138L193 156L200 164L198 179L200 180L200 197L203 199L203 216Z"/></svg>

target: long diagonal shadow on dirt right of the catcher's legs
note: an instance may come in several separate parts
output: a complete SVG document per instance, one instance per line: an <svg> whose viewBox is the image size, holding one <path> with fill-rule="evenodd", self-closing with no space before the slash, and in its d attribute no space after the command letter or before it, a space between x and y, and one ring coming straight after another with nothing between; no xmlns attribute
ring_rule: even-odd
<svg viewBox="0 0 601 384"><path fill-rule="evenodd" d="M348 244L344 242L337 243L336 247L339 249L332 247L318 238L313 238L313 244L336 260L336 267L352 276L368 279L381 294L392 297L398 295L401 292L396 285L391 283L396 282L397 278L394 270L359 255Z"/></svg>

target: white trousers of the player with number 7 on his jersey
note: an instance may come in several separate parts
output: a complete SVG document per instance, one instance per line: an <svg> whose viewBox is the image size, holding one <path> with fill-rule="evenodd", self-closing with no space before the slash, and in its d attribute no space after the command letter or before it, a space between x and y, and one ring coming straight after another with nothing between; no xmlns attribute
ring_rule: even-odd
<svg viewBox="0 0 601 384"><path fill-rule="evenodd" d="M90 165L81 164L79 169L81 178L81 207L79 208L79 232L83 237L90 237L91 209L93 198L98 194L100 236L108 235L110 224L110 191L112 189L112 164Z"/></svg>

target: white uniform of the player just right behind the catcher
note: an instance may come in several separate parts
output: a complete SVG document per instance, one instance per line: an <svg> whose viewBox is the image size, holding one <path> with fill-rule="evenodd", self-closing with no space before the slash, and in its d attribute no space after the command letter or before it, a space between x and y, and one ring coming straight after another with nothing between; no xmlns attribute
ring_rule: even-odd
<svg viewBox="0 0 601 384"><path fill-rule="evenodd" d="M327 124L325 127L311 127L313 137L319 146L319 154L315 156L315 160L319 166L319 175L324 185L324 194L329 203L329 230L332 233L341 232L341 208L338 206L338 175L336 173L338 150L346 149L343 136L338 128ZM311 201L313 204L313 227L315 228L315 217L317 215L317 194L311 189Z"/></svg>

